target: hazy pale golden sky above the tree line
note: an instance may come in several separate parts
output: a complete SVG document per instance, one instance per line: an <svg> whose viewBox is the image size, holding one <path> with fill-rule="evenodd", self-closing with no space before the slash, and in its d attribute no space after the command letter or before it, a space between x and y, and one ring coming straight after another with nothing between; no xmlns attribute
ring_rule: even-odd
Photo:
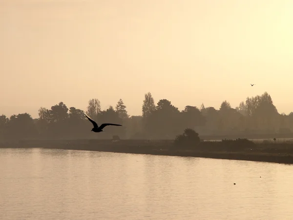
<svg viewBox="0 0 293 220"><path fill-rule="evenodd" d="M138 115L148 91L180 110L267 91L290 113L292 64L292 0L0 0L7 116L91 98Z"/></svg>

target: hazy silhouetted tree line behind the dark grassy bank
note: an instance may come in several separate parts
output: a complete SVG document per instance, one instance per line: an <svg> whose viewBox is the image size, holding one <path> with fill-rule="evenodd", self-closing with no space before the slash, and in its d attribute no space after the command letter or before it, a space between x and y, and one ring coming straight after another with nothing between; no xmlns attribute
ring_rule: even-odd
<svg viewBox="0 0 293 220"><path fill-rule="evenodd" d="M98 99L90 99L86 113L98 125L102 123L122 124L123 127L108 126L99 134L90 132L92 124L84 111L68 107L60 102L50 109L41 107L39 118L29 113L0 115L0 141L19 139L110 139L113 135L126 139L174 139L186 128L200 135L225 135L239 133L290 133L293 131L293 112L278 113L271 96L247 97L236 108L223 101L217 110L214 107L200 108L188 105L179 110L167 99L156 104L150 92L145 94L142 115L130 116L120 99L115 109L110 106L101 110Z"/></svg>

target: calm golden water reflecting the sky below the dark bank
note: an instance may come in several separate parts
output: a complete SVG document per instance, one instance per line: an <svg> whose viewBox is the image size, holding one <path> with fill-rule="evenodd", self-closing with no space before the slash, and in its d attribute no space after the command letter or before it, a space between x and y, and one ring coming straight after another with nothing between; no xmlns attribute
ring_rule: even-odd
<svg viewBox="0 0 293 220"><path fill-rule="evenodd" d="M293 219L292 186L283 164L0 149L0 220Z"/></svg>

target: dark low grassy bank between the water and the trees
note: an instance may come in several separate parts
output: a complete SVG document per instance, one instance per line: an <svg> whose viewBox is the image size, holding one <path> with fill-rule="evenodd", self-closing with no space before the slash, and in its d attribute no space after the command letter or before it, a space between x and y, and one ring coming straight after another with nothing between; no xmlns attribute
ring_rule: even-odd
<svg viewBox="0 0 293 220"><path fill-rule="evenodd" d="M47 148L100 151L128 154L192 156L293 164L293 143L259 143L243 141L201 142L197 146L178 148L172 140L26 140L2 143L1 148Z"/></svg>

